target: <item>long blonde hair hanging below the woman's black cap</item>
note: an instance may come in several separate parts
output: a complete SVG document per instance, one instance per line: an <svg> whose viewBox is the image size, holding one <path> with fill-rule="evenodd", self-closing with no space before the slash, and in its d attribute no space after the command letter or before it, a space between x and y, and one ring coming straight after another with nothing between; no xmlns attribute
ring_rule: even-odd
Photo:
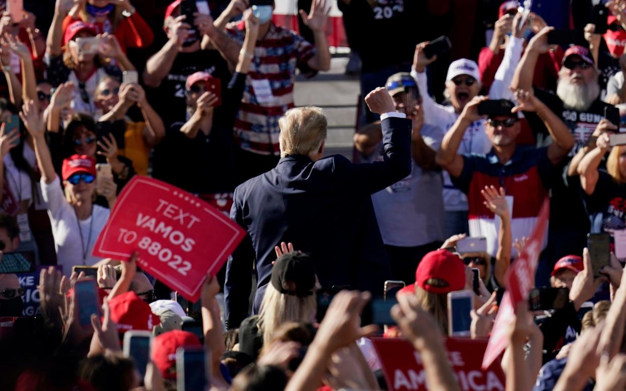
<svg viewBox="0 0 626 391"><path fill-rule="evenodd" d="M263 344L272 342L275 330L286 322L310 323L317 312L315 294L297 297L280 293L274 285L267 284L259 311L259 331L263 333Z"/></svg>

